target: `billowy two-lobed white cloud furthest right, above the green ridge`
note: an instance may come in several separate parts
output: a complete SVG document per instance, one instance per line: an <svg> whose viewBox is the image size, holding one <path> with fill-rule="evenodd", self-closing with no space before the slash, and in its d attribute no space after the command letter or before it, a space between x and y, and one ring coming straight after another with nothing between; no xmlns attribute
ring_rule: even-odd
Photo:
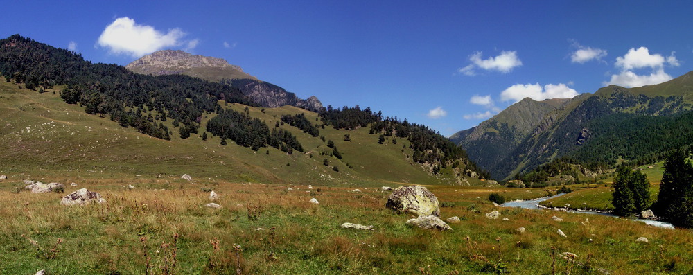
<svg viewBox="0 0 693 275"><path fill-rule="evenodd" d="M620 73L612 75L611 79L603 84L640 87L672 80L672 76L664 71L664 66L681 66L675 54L676 52L672 51L669 56L664 57L658 53L650 54L646 47L631 48L625 55L616 57L614 66L621 70ZM651 72L638 74L635 73L636 69L651 69Z"/></svg>

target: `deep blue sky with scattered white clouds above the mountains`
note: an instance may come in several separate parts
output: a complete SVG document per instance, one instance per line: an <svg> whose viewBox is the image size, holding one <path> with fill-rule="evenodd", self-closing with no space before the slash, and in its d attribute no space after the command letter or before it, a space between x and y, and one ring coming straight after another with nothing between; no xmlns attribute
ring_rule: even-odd
<svg viewBox="0 0 693 275"><path fill-rule="evenodd" d="M655 84L693 60L686 1L53 2L3 3L0 37L123 66L164 48L221 57L301 98L446 136L525 96Z"/></svg>

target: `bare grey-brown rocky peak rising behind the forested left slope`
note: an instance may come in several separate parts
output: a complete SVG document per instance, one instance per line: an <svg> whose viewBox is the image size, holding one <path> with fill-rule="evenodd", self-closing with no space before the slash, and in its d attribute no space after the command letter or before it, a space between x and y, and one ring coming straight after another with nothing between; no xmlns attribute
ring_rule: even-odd
<svg viewBox="0 0 693 275"><path fill-rule="evenodd" d="M222 82L243 91L243 94L262 107L291 105L318 111L322 103L315 96L307 100L298 98L277 85L258 80L245 73L240 66L229 64L226 60L202 55L191 55L184 51L163 50L145 55L125 66L134 73L152 76L184 74L211 82Z"/></svg>

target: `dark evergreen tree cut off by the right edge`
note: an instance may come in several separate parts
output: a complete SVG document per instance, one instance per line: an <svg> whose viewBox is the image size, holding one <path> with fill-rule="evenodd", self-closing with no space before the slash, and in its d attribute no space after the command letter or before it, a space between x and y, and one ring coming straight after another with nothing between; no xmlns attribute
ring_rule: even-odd
<svg viewBox="0 0 693 275"><path fill-rule="evenodd" d="M664 163L657 197L660 215L679 227L693 227L693 163L687 150L673 152Z"/></svg>

